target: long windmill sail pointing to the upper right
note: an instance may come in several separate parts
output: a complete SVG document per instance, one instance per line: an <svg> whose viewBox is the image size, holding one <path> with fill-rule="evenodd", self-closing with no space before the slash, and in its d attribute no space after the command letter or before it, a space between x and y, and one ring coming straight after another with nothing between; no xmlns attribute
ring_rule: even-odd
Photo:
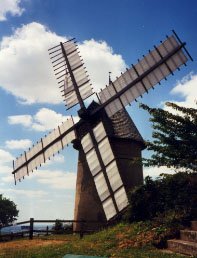
<svg viewBox="0 0 197 258"><path fill-rule="evenodd" d="M154 50L149 51L136 65L132 65L102 90L99 97L108 116L111 117L145 92L148 93L154 85L160 84L162 79L166 79L174 70L185 64L188 61L182 51L185 44L181 42L179 45L173 35L167 37L163 43L158 47L154 46Z"/></svg>

